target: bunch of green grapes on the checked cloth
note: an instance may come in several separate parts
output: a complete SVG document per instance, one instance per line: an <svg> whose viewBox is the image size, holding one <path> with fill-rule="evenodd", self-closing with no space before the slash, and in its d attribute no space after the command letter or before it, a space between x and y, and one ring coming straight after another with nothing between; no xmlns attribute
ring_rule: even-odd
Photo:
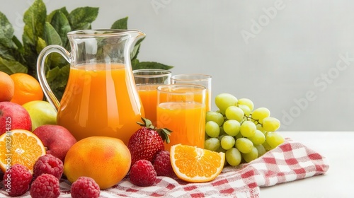
<svg viewBox="0 0 354 198"><path fill-rule="evenodd" d="M254 109L249 98L220 93L215 105L219 110L205 117L205 148L224 152L226 165L249 163L285 141L277 132L280 121L266 107Z"/></svg>

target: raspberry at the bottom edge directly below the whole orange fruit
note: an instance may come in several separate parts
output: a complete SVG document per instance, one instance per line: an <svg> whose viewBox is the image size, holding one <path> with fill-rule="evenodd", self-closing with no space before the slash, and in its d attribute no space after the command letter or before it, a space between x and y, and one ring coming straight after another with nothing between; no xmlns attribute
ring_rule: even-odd
<svg viewBox="0 0 354 198"><path fill-rule="evenodd" d="M72 198L97 198L100 187L91 177L79 177L72 183Z"/></svg>

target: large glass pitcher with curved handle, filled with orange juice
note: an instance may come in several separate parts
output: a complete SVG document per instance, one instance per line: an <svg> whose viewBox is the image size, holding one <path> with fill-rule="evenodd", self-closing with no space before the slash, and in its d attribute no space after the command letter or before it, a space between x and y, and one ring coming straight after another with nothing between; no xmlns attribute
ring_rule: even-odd
<svg viewBox="0 0 354 198"><path fill-rule="evenodd" d="M127 144L140 128L144 109L137 93L130 52L144 37L139 30L77 30L68 33L72 52L59 45L45 47L37 73L47 100L57 109L57 124L77 141L88 136L112 136ZM62 100L52 93L45 77L45 58L52 52L70 63Z"/></svg>

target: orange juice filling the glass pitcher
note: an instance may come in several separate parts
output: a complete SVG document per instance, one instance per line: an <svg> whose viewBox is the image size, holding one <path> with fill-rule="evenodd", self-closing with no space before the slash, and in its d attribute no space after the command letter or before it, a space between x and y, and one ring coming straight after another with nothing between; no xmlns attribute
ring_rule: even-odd
<svg viewBox="0 0 354 198"><path fill-rule="evenodd" d="M134 84L125 83L127 71L122 64L92 64L70 69L67 89L57 115L57 124L76 133L76 139L86 136L118 136L135 132L141 121L139 108L131 105L136 100L129 91ZM128 86L128 88L126 87ZM122 112L120 115L118 112ZM127 142L130 133L119 134Z"/></svg>

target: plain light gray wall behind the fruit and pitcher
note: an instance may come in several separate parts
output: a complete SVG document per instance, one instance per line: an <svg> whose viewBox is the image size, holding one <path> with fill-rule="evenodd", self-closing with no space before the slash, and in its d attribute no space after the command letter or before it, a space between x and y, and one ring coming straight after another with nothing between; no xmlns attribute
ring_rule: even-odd
<svg viewBox="0 0 354 198"><path fill-rule="evenodd" d="M43 1L47 13L99 7L93 28L129 16L128 28L147 34L140 61L210 74L213 99L250 98L283 131L353 131L354 1ZM21 39L33 1L3 3Z"/></svg>

